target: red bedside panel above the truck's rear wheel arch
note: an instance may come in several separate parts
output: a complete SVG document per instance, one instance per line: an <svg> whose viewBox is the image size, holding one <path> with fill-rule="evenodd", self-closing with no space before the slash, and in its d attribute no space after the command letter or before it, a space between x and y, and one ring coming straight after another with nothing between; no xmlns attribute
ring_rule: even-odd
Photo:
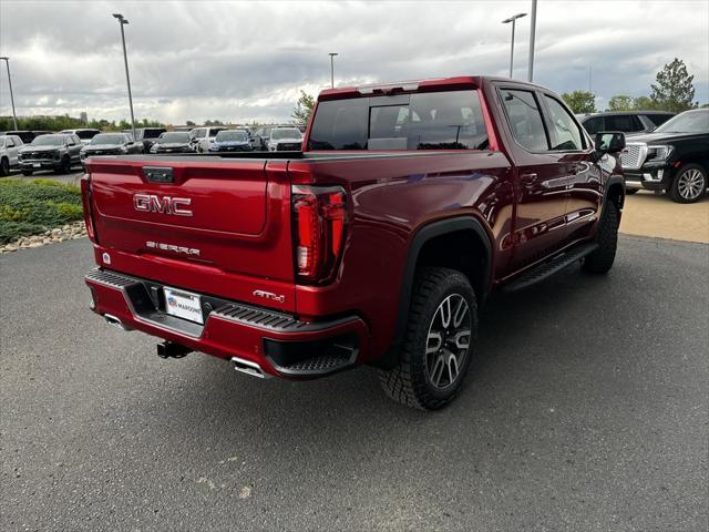
<svg viewBox="0 0 709 532"><path fill-rule="evenodd" d="M338 275L327 287L296 287L306 319L356 311L372 332L372 354L393 339L409 245L424 225L473 216L491 239L493 268L508 259L514 191L501 152L398 153L362 158L292 161L294 183L339 184L350 225Z"/></svg>

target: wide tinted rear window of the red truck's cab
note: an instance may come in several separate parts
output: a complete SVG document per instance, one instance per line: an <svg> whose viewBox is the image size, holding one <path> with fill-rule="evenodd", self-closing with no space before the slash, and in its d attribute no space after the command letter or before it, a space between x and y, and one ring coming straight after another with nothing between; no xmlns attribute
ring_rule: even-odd
<svg viewBox="0 0 709 532"><path fill-rule="evenodd" d="M308 150L486 150L476 90L318 103Z"/></svg>

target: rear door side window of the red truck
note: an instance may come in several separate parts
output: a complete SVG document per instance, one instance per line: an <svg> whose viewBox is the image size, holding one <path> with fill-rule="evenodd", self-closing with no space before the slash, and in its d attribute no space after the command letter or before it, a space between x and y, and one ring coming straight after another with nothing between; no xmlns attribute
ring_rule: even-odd
<svg viewBox="0 0 709 532"><path fill-rule="evenodd" d="M500 93L515 141L531 152L548 151L544 121L534 93L508 89L502 89Z"/></svg>

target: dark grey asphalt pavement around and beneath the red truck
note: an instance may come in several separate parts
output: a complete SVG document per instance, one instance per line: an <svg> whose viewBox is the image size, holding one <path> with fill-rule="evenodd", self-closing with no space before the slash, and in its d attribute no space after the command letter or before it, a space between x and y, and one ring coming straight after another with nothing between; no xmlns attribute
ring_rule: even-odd
<svg viewBox="0 0 709 532"><path fill-rule="evenodd" d="M705 531L709 247L621 237L486 306L423 413L261 381L86 308L85 239L0 256L0 530Z"/></svg>

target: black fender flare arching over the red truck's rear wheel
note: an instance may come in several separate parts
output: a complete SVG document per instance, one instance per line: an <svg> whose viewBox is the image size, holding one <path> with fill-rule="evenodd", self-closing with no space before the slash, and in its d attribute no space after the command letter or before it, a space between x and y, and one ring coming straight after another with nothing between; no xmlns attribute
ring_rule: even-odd
<svg viewBox="0 0 709 532"><path fill-rule="evenodd" d="M413 290L413 280L421 249L429 241L435 237L460 231L473 231L485 248L484 268L486 272L481 294L477 294L479 300L484 300L486 295L490 293L490 288L492 286L492 244L487 232L477 218L473 216L458 216L454 218L431 222L430 224L422 226L414 233L411 238L411 243L409 244L407 263L404 265L401 289L399 293L399 309L397 310L394 338L387 352L376 362L378 366L392 367L399 356L399 350L407 330L407 318L409 316L409 306L411 304L411 293Z"/></svg>

